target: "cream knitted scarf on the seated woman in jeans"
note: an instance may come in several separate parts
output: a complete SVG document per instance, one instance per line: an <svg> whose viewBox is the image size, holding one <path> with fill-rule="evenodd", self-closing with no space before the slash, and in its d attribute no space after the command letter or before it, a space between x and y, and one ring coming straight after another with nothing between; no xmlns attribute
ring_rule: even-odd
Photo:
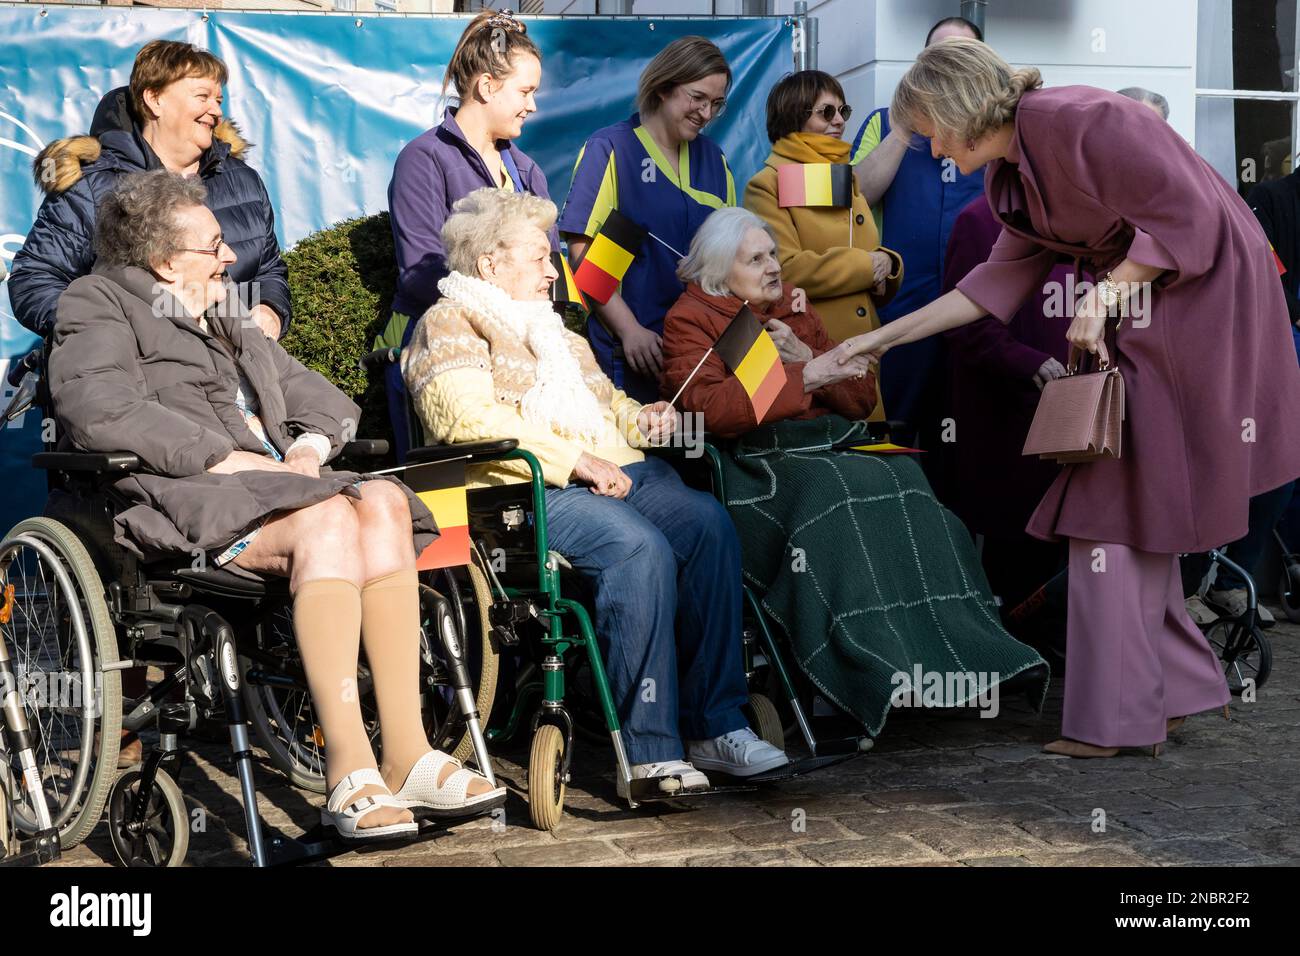
<svg viewBox="0 0 1300 956"><path fill-rule="evenodd" d="M550 300L517 302L481 278L452 272L438 282L447 299L511 329L537 359L537 378L519 403L520 414L566 438L599 440L606 429L601 405L582 381L564 323Z"/></svg>

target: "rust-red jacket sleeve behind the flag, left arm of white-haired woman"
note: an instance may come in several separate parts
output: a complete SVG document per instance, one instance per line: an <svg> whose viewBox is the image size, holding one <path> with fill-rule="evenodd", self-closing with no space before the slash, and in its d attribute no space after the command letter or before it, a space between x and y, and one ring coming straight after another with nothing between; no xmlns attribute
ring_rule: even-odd
<svg viewBox="0 0 1300 956"><path fill-rule="evenodd" d="M714 338L702 321L682 308L681 300L668 310L663 321L663 381L671 389L681 388L701 356L712 346ZM803 393L803 363L785 364L785 385L767 411L767 421L780 421L806 412L812 403ZM703 412L705 428L724 438L744 434L758 427L754 406L740 378L727 371L722 358L714 352L681 393L682 411Z"/></svg>

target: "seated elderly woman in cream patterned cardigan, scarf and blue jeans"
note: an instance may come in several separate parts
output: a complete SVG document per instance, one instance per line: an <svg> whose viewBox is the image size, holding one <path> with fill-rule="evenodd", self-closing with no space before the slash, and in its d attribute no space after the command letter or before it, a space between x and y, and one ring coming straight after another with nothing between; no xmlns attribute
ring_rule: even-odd
<svg viewBox="0 0 1300 956"><path fill-rule="evenodd" d="M673 408L616 390L554 311L554 221L550 202L494 189L452 207L452 272L402 355L407 388L434 441L516 438L541 463L550 546L594 591L632 779L672 793L708 787L706 770L772 770L785 754L741 711L734 529L716 499L642 453L670 441ZM497 460L471 484L529 476L526 463Z"/></svg>

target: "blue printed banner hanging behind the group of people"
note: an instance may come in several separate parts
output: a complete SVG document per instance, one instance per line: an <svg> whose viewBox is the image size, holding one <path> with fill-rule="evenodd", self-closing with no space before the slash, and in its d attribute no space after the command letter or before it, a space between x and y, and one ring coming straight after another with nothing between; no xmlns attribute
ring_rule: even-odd
<svg viewBox="0 0 1300 956"><path fill-rule="evenodd" d="M60 137L86 133L100 98L125 86L151 39L207 47L230 69L225 113L254 144L283 246L354 216L387 208L393 163L443 108L442 75L467 18L286 13L200 13L51 5L0 9L0 278L40 204L31 161ZM734 74L734 104L711 126L737 187L767 156L767 91L792 69L788 20L542 18L528 22L542 49L537 114L520 146L562 200L589 133L627 118L646 61L671 40L708 36ZM0 284L0 369L35 343ZM5 385L4 402L12 389ZM3 423L0 423L3 425ZM0 427L0 533L39 511L44 479L29 459L40 421Z"/></svg>

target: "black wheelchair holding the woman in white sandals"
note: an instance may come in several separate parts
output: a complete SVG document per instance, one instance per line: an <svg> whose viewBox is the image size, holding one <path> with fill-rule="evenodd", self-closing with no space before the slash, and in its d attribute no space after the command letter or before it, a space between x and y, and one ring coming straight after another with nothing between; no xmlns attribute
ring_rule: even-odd
<svg viewBox="0 0 1300 956"><path fill-rule="evenodd" d="M42 365L40 349L16 364L22 377L6 419L51 407ZM384 441L343 449L354 460L386 453ZM44 514L0 541L0 856L47 862L84 840L107 809L120 864L179 866L191 830L177 783L179 737L200 722L226 726L255 865L346 849L321 827L299 839L268 832L257 810L250 727L290 779L324 791L325 741L292 637L287 581L244 578L188 555L143 562L116 544L112 519L122 502L112 483L140 467L131 454L43 451L32 464L49 479ZM491 780L482 698L460 639L465 611L459 591L446 591L437 578L421 579L426 731L439 749L472 753ZM122 675L135 667L161 679L125 700ZM363 714L373 714L364 663L358 693ZM122 731L151 726L157 745L118 774Z"/></svg>

